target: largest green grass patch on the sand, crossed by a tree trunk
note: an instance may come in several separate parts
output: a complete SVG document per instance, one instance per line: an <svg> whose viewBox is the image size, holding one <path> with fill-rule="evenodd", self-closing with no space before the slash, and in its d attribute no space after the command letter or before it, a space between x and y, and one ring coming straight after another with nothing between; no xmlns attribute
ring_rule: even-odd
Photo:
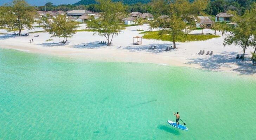
<svg viewBox="0 0 256 140"><path fill-rule="evenodd" d="M159 31L145 31L140 34L144 34L143 38L145 39L155 39L155 40L162 40L162 41L173 41L171 35L163 35L162 38L158 35ZM187 34L184 37L178 37L176 38L177 42L187 42L187 41L203 41L203 40L209 40L211 38L220 37L218 35L212 35L212 34Z"/></svg>

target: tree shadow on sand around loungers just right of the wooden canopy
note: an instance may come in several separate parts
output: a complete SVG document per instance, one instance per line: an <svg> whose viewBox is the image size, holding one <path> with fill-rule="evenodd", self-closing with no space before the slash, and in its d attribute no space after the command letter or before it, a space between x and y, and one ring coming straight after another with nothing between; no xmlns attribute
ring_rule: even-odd
<svg viewBox="0 0 256 140"><path fill-rule="evenodd" d="M150 47L156 47L156 49L152 50L149 49ZM147 52L152 52L154 54L158 54L161 52L172 52L176 51L177 49L171 49L169 51L165 51L166 47L171 47L170 44L148 44L148 45L133 45L130 44L130 46L127 47L122 47L123 49L129 50L129 51L147 51Z"/></svg>

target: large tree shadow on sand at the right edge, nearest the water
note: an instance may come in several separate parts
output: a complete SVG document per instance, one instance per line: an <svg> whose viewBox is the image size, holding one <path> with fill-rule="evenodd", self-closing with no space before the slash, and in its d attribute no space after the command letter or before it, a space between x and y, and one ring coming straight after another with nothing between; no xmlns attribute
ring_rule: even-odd
<svg viewBox="0 0 256 140"><path fill-rule="evenodd" d="M250 56L245 55L244 61L236 59L238 52L223 52L221 54L214 54L206 58L193 58L185 64L199 64L203 69L220 70L221 67L232 68L231 71L238 72L240 75L253 75L256 73L256 66L252 65ZM200 56L200 55L198 55ZM236 64L237 66L232 66Z"/></svg>

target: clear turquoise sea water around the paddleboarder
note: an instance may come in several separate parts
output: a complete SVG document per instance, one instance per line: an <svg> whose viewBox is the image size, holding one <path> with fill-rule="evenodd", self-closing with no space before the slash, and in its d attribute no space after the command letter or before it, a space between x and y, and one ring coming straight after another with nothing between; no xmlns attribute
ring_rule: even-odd
<svg viewBox="0 0 256 140"><path fill-rule="evenodd" d="M256 136L256 80L250 76L0 49L0 83L2 140ZM167 124L175 121L174 111L188 131Z"/></svg>

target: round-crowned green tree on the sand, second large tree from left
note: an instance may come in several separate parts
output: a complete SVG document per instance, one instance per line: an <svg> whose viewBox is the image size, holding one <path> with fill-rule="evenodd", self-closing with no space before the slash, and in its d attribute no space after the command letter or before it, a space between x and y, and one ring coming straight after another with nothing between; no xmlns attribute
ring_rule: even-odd
<svg viewBox="0 0 256 140"><path fill-rule="evenodd" d="M45 30L52 34L52 37L63 37L62 43L65 44L68 37L76 33L76 26L78 26L78 23L66 19L66 15L57 15L56 18L52 18L52 21L46 20Z"/></svg>

